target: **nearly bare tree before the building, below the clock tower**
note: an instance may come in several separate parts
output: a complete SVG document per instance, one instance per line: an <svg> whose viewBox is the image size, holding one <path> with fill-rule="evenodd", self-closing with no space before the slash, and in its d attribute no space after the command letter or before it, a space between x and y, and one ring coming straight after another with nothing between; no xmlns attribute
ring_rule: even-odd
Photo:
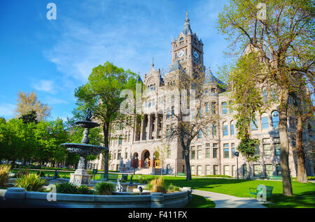
<svg viewBox="0 0 315 222"><path fill-rule="evenodd" d="M169 85L165 93L167 105L174 107L174 112L167 114L167 119L174 117L169 123L169 128L165 127L163 137L172 146L173 140L179 140L184 151L186 162L186 180L191 180L190 170L190 144L202 135L210 133L211 126L218 126L218 111L211 114L207 110L209 101L208 92L211 84L221 84L209 71L209 76L205 77L204 67L195 67L193 73L188 75L183 69L176 71L176 80L173 85ZM208 80L215 79L208 84ZM160 91L159 91L160 96ZM189 102L188 102L189 101ZM188 105L189 104L189 105ZM177 110L177 111L176 111ZM170 118L172 120L172 118ZM165 123L164 123L165 124ZM166 124L165 124L166 125ZM198 138L197 138L198 135Z"/></svg>

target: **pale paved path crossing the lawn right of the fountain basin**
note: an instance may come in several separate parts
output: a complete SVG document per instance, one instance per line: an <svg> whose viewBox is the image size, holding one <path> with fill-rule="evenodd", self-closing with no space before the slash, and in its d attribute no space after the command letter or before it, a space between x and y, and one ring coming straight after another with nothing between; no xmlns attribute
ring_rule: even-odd
<svg viewBox="0 0 315 222"><path fill-rule="evenodd" d="M267 208L261 204L262 202L250 198L237 198L233 195L200 190L193 190L193 194L202 195L214 201L216 208Z"/></svg>

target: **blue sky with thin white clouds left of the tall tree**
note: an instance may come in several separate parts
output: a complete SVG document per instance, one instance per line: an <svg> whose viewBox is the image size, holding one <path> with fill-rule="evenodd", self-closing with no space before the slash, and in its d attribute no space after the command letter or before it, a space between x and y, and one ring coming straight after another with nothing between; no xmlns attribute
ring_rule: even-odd
<svg viewBox="0 0 315 222"><path fill-rule="evenodd" d="M48 3L57 20L48 20ZM227 59L227 42L216 29L227 1L57 1L0 2L0 117L14 117L18 91L34 92L52 107L49 119L71 117L73 91L92 68L106 61L144 77L167 69L171 42L190 27L204 43L204 65L213 73Z"/></svg>

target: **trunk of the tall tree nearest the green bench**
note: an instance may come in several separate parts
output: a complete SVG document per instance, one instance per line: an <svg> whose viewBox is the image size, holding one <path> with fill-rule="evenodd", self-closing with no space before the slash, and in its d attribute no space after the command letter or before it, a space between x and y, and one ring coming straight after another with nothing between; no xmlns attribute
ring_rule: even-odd
<svg viewBox="0 0 315 222"><path fill-rule="evenodd" d="M293 195L292 184L290 179L290 168L288 164L289 144L287 131L287 105L288 105L288 89L283 89L281 94L281 102L279 105L279 137L281 142L281 176L283 195Z"/></svg>

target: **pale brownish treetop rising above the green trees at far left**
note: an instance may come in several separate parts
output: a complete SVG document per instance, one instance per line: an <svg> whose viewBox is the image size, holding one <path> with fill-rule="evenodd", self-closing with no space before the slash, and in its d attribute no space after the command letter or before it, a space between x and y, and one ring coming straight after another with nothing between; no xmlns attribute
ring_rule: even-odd
<svg viewBox="0 0 315 222"><path fill-rule="evenodd" d="M17 108L15 109L15 117L19 118L22 116L25 117L33 117L33 112L36 112L36 119L37 121L41 121L45 119L45 117L50 116L51 108L48 107L47 104L41 103L38 100L37 95L32 90L30 94L26 94L23 91L19 91L18 93L18 104ZM24 117L24 118L25 118Z"/></svg>

